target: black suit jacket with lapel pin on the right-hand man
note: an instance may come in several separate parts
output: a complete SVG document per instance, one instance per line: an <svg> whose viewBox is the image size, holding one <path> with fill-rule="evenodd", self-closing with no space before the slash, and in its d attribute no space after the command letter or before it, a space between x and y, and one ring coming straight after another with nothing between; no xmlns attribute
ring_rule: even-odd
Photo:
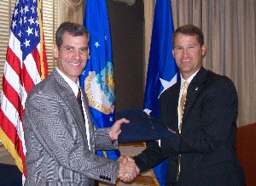
<svg viewBox="0 0 256 186"><path fill-rule="evenodd" d="M178 133L180 82L160 96L160 120ZM182 133L151 142L134 159L144 171L167 158L166 185L245 185L236 158L237 93L233 82L201 68L189 83ZM177 155L181 172L177 178ZM151 157L151 158L148 158Z"/></svg>

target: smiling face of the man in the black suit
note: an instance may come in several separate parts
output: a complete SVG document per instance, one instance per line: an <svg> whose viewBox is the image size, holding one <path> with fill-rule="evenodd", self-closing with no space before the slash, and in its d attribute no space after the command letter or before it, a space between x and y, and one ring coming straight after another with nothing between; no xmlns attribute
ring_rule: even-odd
<svg viewBox="0 0 256 186"><path fill-rule="evenodd" d="M197 40L197 36L187 36L177 33L172 54L183 78L187 80L201 68L202 59L206 54L206 47Z"/></svg>

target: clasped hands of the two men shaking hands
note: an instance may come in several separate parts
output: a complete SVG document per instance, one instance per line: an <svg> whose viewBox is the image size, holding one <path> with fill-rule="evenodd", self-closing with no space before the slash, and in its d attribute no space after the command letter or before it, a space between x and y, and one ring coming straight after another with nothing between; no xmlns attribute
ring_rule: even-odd
<svg viewBox="0 0 256 186"><path fill-rule="evenodd" d="M129 156L119 156L118 178L123 182L131 182L140 173L135 161Z"/></svg>

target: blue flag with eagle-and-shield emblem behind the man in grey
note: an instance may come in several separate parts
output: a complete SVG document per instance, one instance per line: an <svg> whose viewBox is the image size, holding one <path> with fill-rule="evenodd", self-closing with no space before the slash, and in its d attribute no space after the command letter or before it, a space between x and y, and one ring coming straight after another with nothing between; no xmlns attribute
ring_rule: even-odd
<svg viewBox="0 0 256 186"><path fill-rule="evenodd" d="M96 129L111 127L114 118L113 57L106 0L86 1L84 27L90 33L90 56L81 76L80 86L89 99ZM119 151L97 152L113 160Z"/></svg>

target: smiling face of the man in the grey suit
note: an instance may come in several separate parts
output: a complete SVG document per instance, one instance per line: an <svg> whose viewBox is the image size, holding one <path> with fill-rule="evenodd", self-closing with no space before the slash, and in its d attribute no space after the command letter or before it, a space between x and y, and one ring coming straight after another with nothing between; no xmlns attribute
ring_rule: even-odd
<svg viewBox="0 0 256 186"><path fill-rule="evenodd" d="M86 35L73 37L65 32L62 41L60 48L56 44L53 48L57 67L73 82L77 82L89 56L88 37Z"/></svg>

